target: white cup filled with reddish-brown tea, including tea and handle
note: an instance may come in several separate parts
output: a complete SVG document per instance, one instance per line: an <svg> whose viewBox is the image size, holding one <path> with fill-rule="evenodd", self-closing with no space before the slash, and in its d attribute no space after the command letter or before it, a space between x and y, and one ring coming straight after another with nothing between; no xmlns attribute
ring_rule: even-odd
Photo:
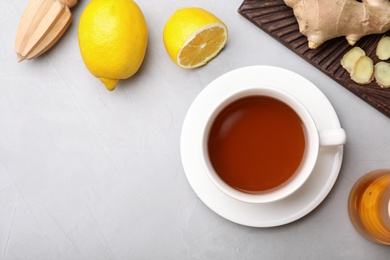
<svg viewBox="0 0 390 260"><path fill-rule="evenodd" d="M254 86L220 97L202 127L202 164L214 185L248 203L288 197L309 178L322 146L343 145L344 129L319 130L291 94Z"/></svg>

